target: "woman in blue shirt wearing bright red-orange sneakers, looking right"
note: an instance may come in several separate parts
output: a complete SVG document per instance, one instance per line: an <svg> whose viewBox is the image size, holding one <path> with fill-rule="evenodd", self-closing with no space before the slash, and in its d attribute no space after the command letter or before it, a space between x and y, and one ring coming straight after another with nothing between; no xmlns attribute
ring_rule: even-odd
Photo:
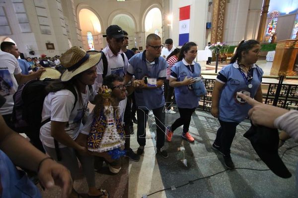
<svg viewBox="0 0 298 198"><path fill-rule="evenodd" d="M192 89L192 84L196 82L194 78L201 75L200 64L194 62L197 51L197 44L193 42L184 44L181 48L177 63L171 68L169 83L171 87L175 88L175 99L180 118L175 120L172 126L167 127L166 140L168 142L171 142L173 132L182 125L182 138L191 143L195 141L188 129L191 115L199 105L200 100Z"/></svg>

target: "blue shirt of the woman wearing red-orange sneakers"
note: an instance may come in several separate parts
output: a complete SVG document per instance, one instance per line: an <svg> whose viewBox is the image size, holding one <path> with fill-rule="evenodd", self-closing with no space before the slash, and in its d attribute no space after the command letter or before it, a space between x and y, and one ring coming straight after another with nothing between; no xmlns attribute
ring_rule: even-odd
<svg viewBox="0 0 298 198"><path fill-rule="evenodd" d="M185 77L199 77L201 75L201 66L199 63L192 62L189 65L184 59L174 64L171 68L170 78L180 82ZM199 105L200 98L194 94L191 86L183 85L175 87L175 99L179 108L196 108Z"/></svg>

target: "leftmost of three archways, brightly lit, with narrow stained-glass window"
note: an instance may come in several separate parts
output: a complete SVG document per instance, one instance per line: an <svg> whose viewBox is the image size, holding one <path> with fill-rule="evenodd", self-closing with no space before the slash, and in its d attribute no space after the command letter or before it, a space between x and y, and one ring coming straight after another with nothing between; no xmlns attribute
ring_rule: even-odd
<svg viewBox="0 0 298 198"><path fill-rule="evenodd" d="M97 15L87 8L82 8L78 13L79 29L81 30L83 49L90 50L89 46L95 50L103 48L101 24ZM87 35L92 34L92 40L87 39ZM88 37L89 38L89 37ZM92 44L91 44L92 41Z"/></svg>

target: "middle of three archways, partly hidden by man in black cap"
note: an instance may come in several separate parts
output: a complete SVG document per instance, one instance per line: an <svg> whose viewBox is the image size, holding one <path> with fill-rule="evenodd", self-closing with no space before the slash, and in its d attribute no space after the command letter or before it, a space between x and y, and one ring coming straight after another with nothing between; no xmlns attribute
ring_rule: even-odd
<svg viewBox="0 0 298 198"><path fill-rule="evenodd" d="M129 37L129 44L128 49L132 49L136 47L136 27L134 20L127 14L118 14L116 15L113 20L112 24L119 25L123 30L128 33Z"/></svg>

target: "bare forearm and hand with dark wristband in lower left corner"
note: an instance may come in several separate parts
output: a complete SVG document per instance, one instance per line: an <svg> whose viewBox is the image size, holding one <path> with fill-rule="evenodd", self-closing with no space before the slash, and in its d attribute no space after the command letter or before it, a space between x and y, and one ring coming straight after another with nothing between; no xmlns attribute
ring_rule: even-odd
<svg viewBox="0 0 298 198"><path fill-rule="evenodd" d="M1 115L0 126L0 149L11 161L17 166L38 171L38 178L44 187L51 188L56 184L63 189L61 197L68 198L73 186L69 170L12 131Z"/></svg>

